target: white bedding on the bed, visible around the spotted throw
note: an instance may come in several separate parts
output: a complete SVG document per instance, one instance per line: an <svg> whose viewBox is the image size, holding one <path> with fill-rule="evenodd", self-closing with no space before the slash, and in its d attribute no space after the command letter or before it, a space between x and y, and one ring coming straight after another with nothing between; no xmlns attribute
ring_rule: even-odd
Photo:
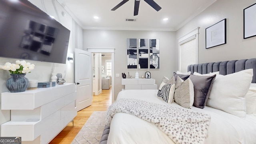
<svg viewBox="0 0 256 144"><path fill-rule="evenodd" d="M158 90L124 90L120 98L134 98L168 105L156 96ZM176 103L172 106L182 108ZM192 107L196 112L210 114L211 122L205 144L256 144L256 116L240 118L224 111L206 106L204 109ZM126 113L116 113L110 125L108 144L174 144L174 142L154 124Z"/></svg>

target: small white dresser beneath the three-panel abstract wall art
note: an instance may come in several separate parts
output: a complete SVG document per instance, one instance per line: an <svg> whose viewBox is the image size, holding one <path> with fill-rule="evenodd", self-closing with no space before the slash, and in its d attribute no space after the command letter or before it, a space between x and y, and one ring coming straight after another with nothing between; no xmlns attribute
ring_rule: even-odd
<svg viewBox="0 0 256 144"><path fill-rule="evenodd" d="M153 78L122 78L125 90L156 90L157 84Z"/></svg>

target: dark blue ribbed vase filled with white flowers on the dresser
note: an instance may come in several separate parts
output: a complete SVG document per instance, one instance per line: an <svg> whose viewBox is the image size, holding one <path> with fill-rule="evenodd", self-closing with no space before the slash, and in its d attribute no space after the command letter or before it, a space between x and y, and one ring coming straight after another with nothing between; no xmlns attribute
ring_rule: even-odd
<svg viewBox="0 0 256 144"><path fill-rule="evenodd" d="M0 65L0 69L8 70L11 74L11 78L6 80L6 87L10 92L24 92L28 88L28 78L24 77L26 73L30 73L34 70L35 65L26 62L25 60L16 60L16 64L6 62L4 65Z"/></svg>

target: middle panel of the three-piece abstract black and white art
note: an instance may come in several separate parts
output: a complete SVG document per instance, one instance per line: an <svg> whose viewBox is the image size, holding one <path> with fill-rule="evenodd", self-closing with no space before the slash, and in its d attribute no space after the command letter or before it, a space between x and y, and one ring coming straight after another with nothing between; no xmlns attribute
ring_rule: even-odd
<svg viewBox="0 0 256 144"><path fill-rule="evenodd" d="M148 68L148 39L138 39L138 68Z"/></svg>

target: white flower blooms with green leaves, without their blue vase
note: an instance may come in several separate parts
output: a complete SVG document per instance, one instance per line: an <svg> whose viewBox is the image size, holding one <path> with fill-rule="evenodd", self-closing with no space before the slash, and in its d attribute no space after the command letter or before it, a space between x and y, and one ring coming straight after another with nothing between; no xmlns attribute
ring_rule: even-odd
<svg viewBox="0 0 256 144"><path fill-rule="evenodd" d="M0 65L0 69L8 70L11 74L26 74L34 70L35 65L26 62L25 60L16 60L16 64L6 62L4 65Z"/></svg>

